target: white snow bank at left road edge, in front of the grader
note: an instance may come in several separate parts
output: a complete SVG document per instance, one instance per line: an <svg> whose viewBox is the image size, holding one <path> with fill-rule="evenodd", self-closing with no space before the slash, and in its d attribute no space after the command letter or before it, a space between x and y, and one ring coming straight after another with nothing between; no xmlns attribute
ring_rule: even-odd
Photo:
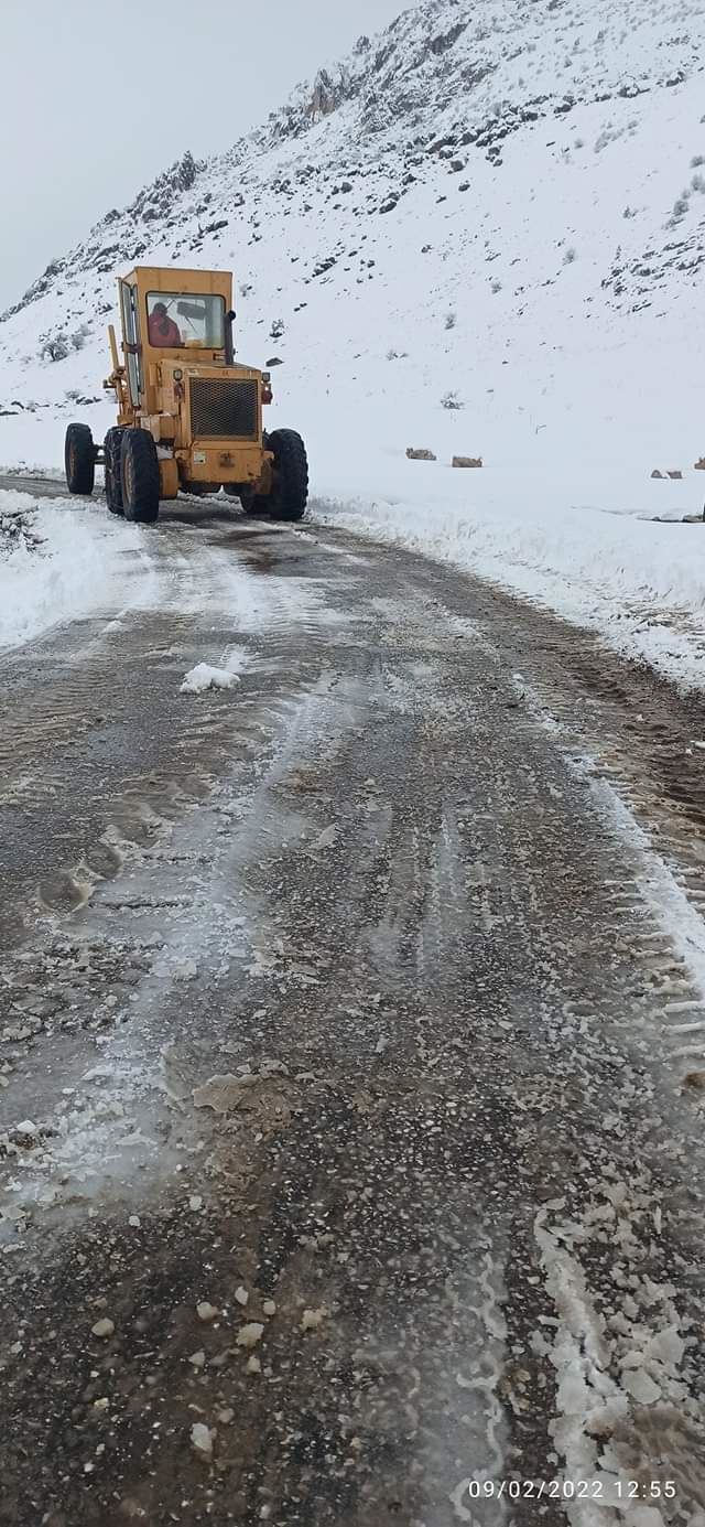
<svg viewBox="0 0 705 1527"><path fill-rule="evenodd" d="M0 647L29 641L49 626L118 605L125 553L140 547L137 525L89 505L0 490L0 522L31 527L0 538Z"/></svg>

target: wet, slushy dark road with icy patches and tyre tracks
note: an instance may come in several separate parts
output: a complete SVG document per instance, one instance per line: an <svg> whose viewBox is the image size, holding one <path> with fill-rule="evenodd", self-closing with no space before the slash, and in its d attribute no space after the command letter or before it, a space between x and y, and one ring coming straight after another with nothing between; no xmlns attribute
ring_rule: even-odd
<svg viewBox="0 0 705 1527"><path fill-rule="evenodd" d="M314 524L134 557L2 666L0 1522L702 1524L702 701Z"/></svg>

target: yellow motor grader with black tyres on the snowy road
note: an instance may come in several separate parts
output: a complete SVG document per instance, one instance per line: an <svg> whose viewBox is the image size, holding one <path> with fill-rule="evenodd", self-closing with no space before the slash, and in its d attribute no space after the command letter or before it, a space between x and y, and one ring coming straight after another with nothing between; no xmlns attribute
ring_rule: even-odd
<svg viewBox="0 0 705 1527"><path fill-rule="evenodd" d="M118 425L102 447L69 425L66 481L92 493L96 464L113 515L153 522L159 502L224 487L249 515L301 519L308 498L305 446L293 429L262 429L269 371L233 356L232 275L136 266L122 276L122 360L110 325Z"/></svg>

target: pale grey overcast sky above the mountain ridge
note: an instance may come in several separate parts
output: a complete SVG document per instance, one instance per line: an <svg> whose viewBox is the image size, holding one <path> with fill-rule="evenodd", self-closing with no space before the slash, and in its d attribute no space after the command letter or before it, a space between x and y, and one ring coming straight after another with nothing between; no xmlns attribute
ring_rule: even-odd
<svg viewBox="0 0 705 1527"><path fill-rule="evenodd" d="M3 0L0 312L185 148L229 148L410 3Z"/></svg>

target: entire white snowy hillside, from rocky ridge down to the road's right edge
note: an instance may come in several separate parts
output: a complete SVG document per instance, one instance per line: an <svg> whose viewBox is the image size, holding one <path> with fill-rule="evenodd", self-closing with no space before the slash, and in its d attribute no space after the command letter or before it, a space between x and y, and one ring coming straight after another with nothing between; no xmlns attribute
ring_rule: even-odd
<svg viewBox="0 0 705 1527"><path fill-rule="evenodd" d="M282 362L270 423L307 437L314 513L693 676L705 533L642 521L705 499L703 55L699 0L406 11L29 287L0 322L0 461L58 467L70 418L110 421L118 272L232 267L240 354Z"/></svg>

